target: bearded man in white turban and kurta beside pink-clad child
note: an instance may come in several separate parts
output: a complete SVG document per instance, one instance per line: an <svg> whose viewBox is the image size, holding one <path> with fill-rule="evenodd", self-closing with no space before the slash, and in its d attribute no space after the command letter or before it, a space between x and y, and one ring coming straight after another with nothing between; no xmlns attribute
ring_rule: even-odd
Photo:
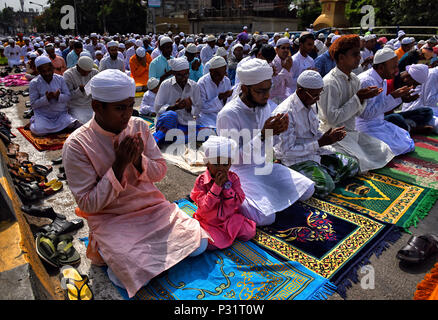
<svg viewBox="0 0 438 320"><path fill-rule="evenodd" d="M257 225L269 225L275 214L295 201L310 198L314 183L305 176L269 160L272 138L288 128L287 114L271 117L268 107L272 67L254 58L237 68L239 94L219 112L217 132L239 147L239 159L231 170L239 177L245 201L242 214ZM237 135L237 136L236 136ZM272 154L271 154L272 155Z"/></svg>

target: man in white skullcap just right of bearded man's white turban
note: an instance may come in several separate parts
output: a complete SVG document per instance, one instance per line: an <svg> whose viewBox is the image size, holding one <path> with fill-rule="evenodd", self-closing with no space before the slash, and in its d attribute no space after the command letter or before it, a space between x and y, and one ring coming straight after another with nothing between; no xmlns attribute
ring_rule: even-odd
<svg viewBox="0 0 438 320"><path fill-rule="evenodd" d="M289 39L278 39L275 50L277 55L272 61L274 76L270 97L276 104L280 104L293 93L294 88Z"/></svg>

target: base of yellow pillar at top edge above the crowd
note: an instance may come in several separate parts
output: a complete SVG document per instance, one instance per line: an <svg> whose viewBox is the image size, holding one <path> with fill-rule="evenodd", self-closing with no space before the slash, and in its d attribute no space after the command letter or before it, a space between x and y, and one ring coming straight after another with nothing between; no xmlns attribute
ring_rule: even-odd
<svg viewBox="0 0 438 320"><path fill-rule="evenodd" d="M349 22L345 17L345 5L348 0L320 0L322 6L321 15L313 23L314 30L323 28L348 27Z"/></svg>

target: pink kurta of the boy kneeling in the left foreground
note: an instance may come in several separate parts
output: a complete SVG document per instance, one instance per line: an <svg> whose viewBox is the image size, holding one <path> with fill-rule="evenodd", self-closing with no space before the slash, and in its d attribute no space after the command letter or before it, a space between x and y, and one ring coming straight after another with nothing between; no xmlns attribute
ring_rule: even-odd
<svg viewBox="0 0 438 320"><path fill-rule="evenodd" d="M130 164L120 183L112 169L114 142L138 132L144 141L143 172ZM87 256L102 264L99 249L129 297L195 251L201 238L208 238L197 220L155 187L167 167L143 120L131 118L128 127L115 135L92 119L70 135L62 157L77 212L88 221Z"/></svg>

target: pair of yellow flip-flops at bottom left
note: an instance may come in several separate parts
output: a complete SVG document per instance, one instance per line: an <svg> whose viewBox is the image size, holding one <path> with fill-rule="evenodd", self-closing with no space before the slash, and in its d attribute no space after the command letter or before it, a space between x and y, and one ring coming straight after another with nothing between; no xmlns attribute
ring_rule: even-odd
<svg viewBox="0 0 438 320"><path fill-rule="evenodd" d="M65 284L68 300L93 300L93 291L88 286L88 282L88 276L80 274L75 268L62 267L61 283Z"/></svg>

